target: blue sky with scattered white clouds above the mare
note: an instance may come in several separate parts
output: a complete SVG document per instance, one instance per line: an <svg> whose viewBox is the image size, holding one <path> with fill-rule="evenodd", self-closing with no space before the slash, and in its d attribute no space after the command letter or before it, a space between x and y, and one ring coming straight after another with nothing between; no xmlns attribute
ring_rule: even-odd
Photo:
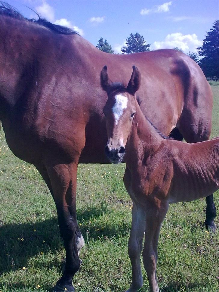
<svg viewBox="0 0 219 292"><path fill-rule="evenodd" d="M74 28L96 45L103 37L116 53L130 33L140 33L150 49L179 47L196 52L219 19L218 0L5 0L25 17L32 8L53 23ZM26 6L25 6L26 5Z"/></svg>

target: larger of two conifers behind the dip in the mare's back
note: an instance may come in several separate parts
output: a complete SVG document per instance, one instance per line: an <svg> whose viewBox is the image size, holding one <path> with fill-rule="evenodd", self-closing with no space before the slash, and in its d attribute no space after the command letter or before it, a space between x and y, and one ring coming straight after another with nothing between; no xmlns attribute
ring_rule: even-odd
<svg viewBox="0 0 219 292"><path fill-rule="evenodd" d="M131 33L128 39L126 39L126 46L122 47L122 54L132 54L150 51L150 44L146 44L143 36L140 36L139 33Z"/></svg>

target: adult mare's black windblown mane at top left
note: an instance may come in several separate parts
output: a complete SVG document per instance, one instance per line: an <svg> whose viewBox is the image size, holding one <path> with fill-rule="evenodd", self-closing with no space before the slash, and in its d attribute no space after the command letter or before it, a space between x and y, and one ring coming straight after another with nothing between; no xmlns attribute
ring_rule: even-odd
<svg viewBox="0 0 219 292"><path fill-rule="evenodd" d="M32 22L32 23L35 23L35 24L38 24L41 26L45 26L48 29L54 31L55 33L60 33L60 34L65 34L65 35L79 34L76 31L71 30L68 27L53 24L53 23L45 20L44 18L41 18L37 12L35 12L35 13L37 14L37 16L39 18L38 20L36 20L35 18L28 19L28 18L24 17L22 14L20 14L20 12L17 11L16 8L12 7L8 3L0 2L0 15L16 18L16 19L20 19L20 20L25 20L25 21L29 21L29 22Z"/></svg>

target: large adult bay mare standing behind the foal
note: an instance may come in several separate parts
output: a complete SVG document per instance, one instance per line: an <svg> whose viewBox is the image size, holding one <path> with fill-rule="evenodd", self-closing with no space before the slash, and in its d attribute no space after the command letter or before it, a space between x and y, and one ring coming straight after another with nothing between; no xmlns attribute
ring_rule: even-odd
<svg viewBox="0 0 219 292"><path fill-rule="evenodd" d="M105 64L112 80L142 73L141 109L164 134L187 142L208 140L212 93L199 66L174 50L131 55L99 51L72 30L46 20L27 20L0 5L0 119L11 151L35 165L54 198L66 250L57 284L73 291L78 251L84 243L76 217L78 163L108 163L100 86ZM118 66L119 64L119 66ZM205 225L215 228L213 195Z"/></svg>

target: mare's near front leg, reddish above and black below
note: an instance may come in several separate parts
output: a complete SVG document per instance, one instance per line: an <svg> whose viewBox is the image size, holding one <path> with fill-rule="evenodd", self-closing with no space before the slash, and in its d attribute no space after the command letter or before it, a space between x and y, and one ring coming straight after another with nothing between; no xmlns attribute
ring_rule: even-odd
<svg viewBox="0 0 219 292"><path fill-rule="evenodd" d="M75 291L72 279L80 267L76 234L81 237L76 216L77 162L48 166L54 200L57 208L60 233L66 250L66 263L56 292ZM82 240L81 240L82 241ZM81 244L79 244L81 247Z"/></svg>

